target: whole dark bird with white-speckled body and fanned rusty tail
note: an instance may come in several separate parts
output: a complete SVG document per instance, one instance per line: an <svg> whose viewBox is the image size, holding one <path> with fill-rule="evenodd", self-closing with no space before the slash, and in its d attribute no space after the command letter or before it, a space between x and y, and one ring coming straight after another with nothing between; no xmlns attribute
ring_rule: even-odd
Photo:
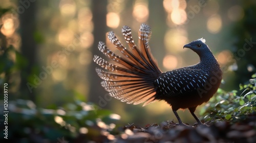
<svg viewBox="0 0 256 143"><path fill-rule="evenodd" d="M140 103L147 105L157 100L164 100L172 106L180 125L184 125L176 112L180 108L188 108L197 122L202 124L194 111L198 105L209 101L219 88L222 79L220 65L205 44L205 40L201 38L184 45L199 55L198 64L163 73L148 45L151 36L150 27L141 25L138 47L133 41L131 28L124 26L122 34L129 45L128 48L120 43L114 32L110 32L108 37L124 55L123 57L110 51L103 42L99 42L98 45L99 50L118 65L94 56L97 64L112 71L109 73L96 68L97 74L104 80L101 85L110 92L110 96L135 105Z"/></svg>

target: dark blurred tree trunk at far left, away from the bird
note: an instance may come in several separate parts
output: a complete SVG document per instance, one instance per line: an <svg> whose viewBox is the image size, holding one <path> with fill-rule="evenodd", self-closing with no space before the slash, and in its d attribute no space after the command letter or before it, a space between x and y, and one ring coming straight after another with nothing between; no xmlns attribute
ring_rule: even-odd
<svg viewBox="0 0 256 143"><path fill-rule="evenodd" d="M36 64L36 42L34 40L34 32L36 28L36 1L19 1L17 13L19 14L19 31L22 44L20 51L27 59L27 66L21 71L20 98L29 99L35 102L35 92L27 86L28 77L32 74L32 69ZM32 83L34 84L34 83Z"/></svg>

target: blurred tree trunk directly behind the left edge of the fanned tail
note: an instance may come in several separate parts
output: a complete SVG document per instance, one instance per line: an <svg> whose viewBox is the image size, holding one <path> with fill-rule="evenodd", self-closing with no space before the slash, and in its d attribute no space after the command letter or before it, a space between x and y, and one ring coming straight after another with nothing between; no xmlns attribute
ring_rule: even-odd
<svg viewBox="0 0 256 143"><path fill-rule="evenodd" d="M98 50L98 42L105 41L106 33L106 5L107 1L94 0L93 2L93 22L94 22L94 44L92 47L92 54L102 56ZM94 102L100 107L106 106L105 94L106 91L100 85L100 78L97 76L95 67L99 67L96 63L92 62L89 66L89 79L90 79L90 91L89 101ZM106 97L109 98L109 97ZM102 101L102 99L104 101Z"/></svg>

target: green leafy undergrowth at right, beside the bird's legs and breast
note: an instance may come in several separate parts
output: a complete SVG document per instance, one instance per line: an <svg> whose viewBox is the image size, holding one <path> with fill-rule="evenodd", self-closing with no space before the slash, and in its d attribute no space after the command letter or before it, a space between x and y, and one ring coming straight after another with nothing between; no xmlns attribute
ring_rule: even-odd
<svg viewBox="0 0 256 143"><path fill-rule="evenodd" d="M255 76L256 74L252 77ZM240 90L244 90L241 95L237 94L237 90L226 92L218 89L217 96L206 104L200 112L201 115L205 115L205 120L211 122L227 121L236 123L245 120L248 115L256 112L255 83L256 79L251 79L248 84L240 84ZM247 93L242 96L245 92Z"/></svg>

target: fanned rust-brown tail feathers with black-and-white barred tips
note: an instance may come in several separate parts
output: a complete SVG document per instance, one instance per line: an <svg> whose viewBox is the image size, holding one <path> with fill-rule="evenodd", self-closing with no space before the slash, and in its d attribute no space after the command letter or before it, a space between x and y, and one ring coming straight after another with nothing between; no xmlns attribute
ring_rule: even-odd
<svg viewBox="0 0 256 143"><path fill-rule="evenodd" d="M104 42L99 42L98 49L118 65L105 61L95 55L93 60L104 71L96 68L98 76L103 79L101 86L110 96L126 102L127 104L144 105L155 101L156 87L154 81L162 73L156 60L150 52L148 41L151 37L151 29L144 23L139 30L139 47L134 43L131 28L123 26L122 34L129 47L121 44L113 31L109 32L110 42L124 55L118 56L106 47Z"/></svg>

